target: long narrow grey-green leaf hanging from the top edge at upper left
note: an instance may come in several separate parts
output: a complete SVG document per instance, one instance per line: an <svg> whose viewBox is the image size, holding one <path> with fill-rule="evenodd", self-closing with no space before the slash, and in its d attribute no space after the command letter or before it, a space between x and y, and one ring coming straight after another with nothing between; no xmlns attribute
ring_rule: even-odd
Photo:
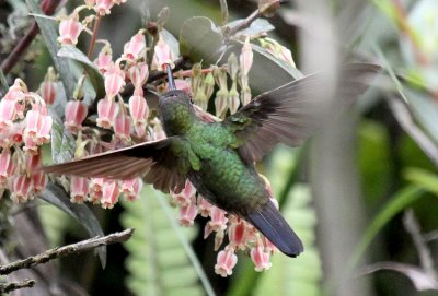
<svg viewBox="0 0 438 296"><path fill-rule="evenodd" d="M44 15L43 11L35 2L35 0L26 0L26 3L33 14ZM56 40L58 35L54 26L54 21L38 16L35 17L35 21L38 24L41 34L43 35L44 42L51 56L55 68L60 75L60 79L64 84L64 90L66 90L67 92L67 97L73 97L76 80L74 76L71 74L68 60L65 58L59 58L57 56L57 52L59 50L59 45L58 42Z"/></svg>

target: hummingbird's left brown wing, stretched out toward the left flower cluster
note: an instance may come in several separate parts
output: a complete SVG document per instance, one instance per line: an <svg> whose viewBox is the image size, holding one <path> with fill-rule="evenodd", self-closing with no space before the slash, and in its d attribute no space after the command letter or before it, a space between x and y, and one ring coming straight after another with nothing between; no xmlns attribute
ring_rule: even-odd
<svg viewBox="0 0 438 296"><path fill-rule="evenodd" d="M43 170L57 175L111 179L130 179L141 176L154 188L169 192L170 189L184 187L185 176L176 166L180 162L184 162L184 158L175 155L175 147L183 141L180 137L170 137L47 166Z"/></svg>

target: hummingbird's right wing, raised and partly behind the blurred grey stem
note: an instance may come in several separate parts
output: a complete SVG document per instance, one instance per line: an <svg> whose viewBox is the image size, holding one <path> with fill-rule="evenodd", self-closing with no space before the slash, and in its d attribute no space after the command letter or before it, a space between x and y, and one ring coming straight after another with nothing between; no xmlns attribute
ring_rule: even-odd
<svg viewBox="0 0 438 296"><path fill-rule="evenodd" d="M258 95L223 121L235 135L233 147L250 163L261 161L278 142L301 144L324 120L355 102L379 70L377 64L351 63L341 69L333 91L321 72ZM327 93L335 99L327 99Z"/></svg>

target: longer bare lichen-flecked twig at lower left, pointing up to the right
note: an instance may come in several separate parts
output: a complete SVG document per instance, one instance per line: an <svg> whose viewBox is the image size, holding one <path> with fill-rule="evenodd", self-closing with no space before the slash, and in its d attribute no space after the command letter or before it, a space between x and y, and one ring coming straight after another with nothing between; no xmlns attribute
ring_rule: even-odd
<svg viewBox="0 0 438 296"><path fill-rule="evenodd" d="M21 269L28 269L35 267L41 263L45 263L55 258L70 256L72 253L80 253L83 251L88 251L100 246L112 245L116 242L123 242L128 240L132 236L134 229L128 228L120 233L114 233L104 237L94 237L90 239L85 239L72 245L56 247L54 249L47 250L43 253L27 257L23 260L19 260L5 265L0 267L0 275L9 274L13 271Z"/></svg>

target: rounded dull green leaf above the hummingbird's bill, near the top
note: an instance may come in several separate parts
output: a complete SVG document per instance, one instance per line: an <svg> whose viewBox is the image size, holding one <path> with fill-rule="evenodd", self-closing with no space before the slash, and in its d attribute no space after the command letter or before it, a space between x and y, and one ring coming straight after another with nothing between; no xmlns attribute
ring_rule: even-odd
<svg viewBox="0 0 438 296"><path fill-rule="evenodd" d="M180 51L194 62L206 60L215 62L223 36L214 22L205 16L194 16L186 20L180 31Z"/></svg>

